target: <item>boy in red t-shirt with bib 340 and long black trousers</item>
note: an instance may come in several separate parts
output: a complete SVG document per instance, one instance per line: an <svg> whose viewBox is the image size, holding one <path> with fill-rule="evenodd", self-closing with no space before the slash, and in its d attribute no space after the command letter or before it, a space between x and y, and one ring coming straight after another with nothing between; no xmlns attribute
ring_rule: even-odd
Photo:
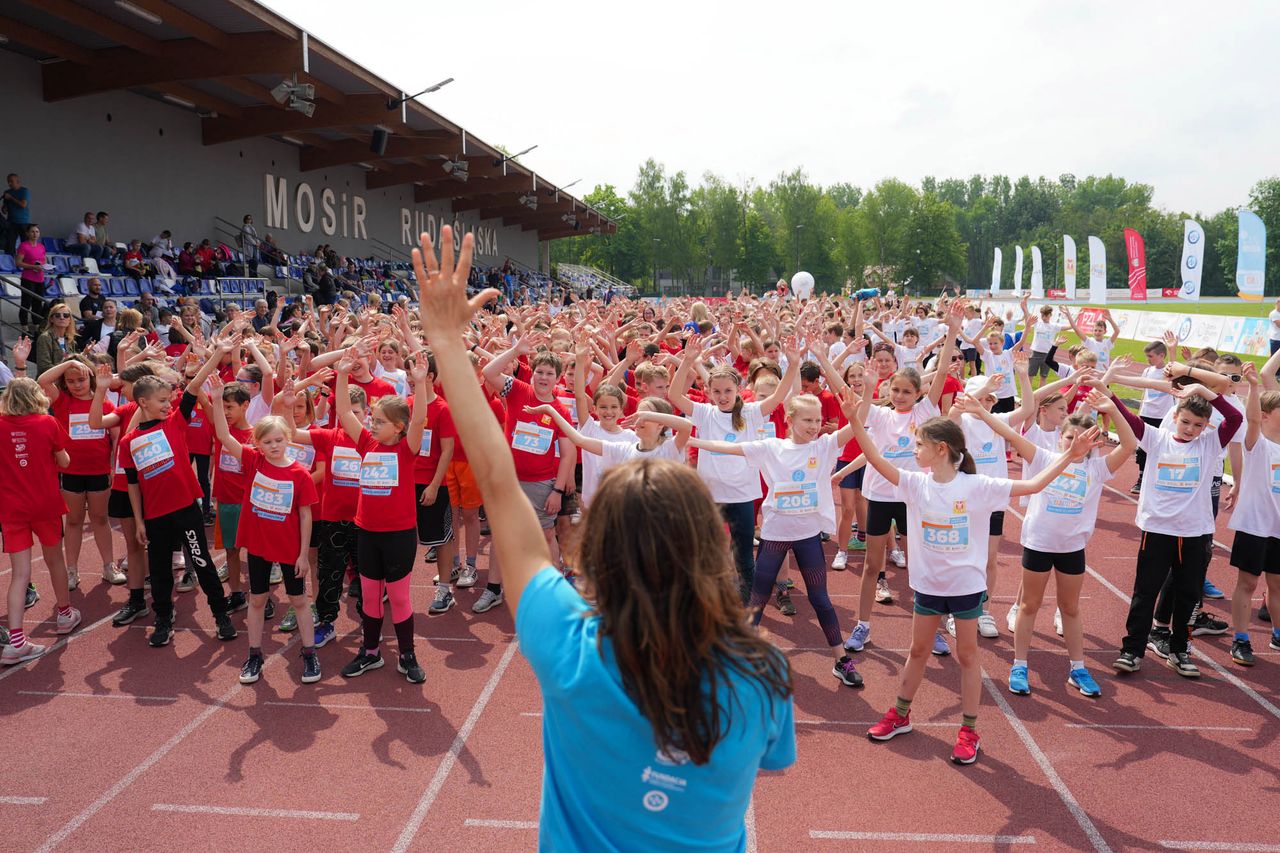
<svg viewBox="0 0 1280 853"><path fill-rule="evenodd" d="M221 348L220 345L218 350ZM198 388L212 374L218 353L206 361L192 379ZM209 558L205 517L200 510L201 491L191 467L187 425L197 398L184 392L173 409L173 386L159 377L143 377L133 384L133 400L141 419L137 429L120 439L120 464L129 483L138 539L147 546L147 569L156 610L152 647L168 646L173 637L173 569L170 555L180 546L187 566L195 569L200 588L218 622L218 639L236 639L236 628L227 613L227 596L218 571Z"/></svg>

